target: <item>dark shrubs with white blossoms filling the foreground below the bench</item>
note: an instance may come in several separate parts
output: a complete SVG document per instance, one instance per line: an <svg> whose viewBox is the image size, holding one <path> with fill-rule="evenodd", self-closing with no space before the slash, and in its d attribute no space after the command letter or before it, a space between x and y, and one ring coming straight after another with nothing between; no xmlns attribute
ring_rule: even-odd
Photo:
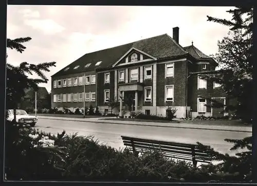
<svg viewBox="0 0 257 186"><path fill-rule="evenodd" d="M62 181L246 181L250 179L250 153L239 158L221 155L225 163L194 168L191 162L170 160L158 151L136 157L127 149L99 144L93 137L57 136L7 123L5 171L8 180ZM236 146L243 146L240 141ZM250 150L251 147L248 146Z"/></svg>

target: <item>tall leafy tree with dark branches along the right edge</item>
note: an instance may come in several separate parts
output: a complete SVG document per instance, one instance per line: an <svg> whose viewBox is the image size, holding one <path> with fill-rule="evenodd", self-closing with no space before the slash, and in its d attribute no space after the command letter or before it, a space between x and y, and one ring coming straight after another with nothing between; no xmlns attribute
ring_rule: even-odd
<svg viewBox="0 0 257 186"><path fill-rule="evenodd" d="M232 20L207 16L208 21L229 26L231 30L228 36L218 42L218 53L213 56L222 70L200 76L221 84L228 98L236 98L236 104L228 106L227 109L235 110L237 116L245 122L251 122L253 116L253 8L236 7L227 12L233 14Z"/></svg>

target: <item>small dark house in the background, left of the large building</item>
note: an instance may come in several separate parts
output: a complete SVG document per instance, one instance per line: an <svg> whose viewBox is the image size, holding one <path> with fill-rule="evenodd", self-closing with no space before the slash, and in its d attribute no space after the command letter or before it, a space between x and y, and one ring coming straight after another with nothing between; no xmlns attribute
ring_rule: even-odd
<svg viewBox="0 0 257 186"><path fill-rule="evenodd" d="M49 109L51 107L50 94L45 87L39 87L39 90L36 92L36 108L40 109ZM35 109L35 91L33 89L25 89L25 96L22 98L21 103L19 104L20 109L26 110L28 113L31 113Z"/></svg>

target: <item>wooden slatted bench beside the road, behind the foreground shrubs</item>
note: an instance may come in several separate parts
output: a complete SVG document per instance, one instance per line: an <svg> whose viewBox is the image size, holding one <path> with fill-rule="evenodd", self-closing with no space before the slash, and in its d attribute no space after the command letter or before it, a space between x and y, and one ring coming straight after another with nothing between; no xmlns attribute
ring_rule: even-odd
<svg viewBox="0 0 257 186"><path fill-rule="evenodd" d="M163 153L163 156L192 161L195 167L197 162L211 162L211 157L203 152L197 144L159 141L128 136L121 136L121 138L124 145L136 156L138 156L139 153L144 153L149 150L159 150Z"/></svg>

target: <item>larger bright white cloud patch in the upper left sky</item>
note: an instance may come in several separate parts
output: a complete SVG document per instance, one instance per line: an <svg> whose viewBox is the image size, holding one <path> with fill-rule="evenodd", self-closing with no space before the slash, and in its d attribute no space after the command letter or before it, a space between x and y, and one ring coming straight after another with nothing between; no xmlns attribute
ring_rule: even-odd
<svg viewBox="0 0 257 186"><path fill-rule="evenodd" d="M25 19L24 24L31 26L33 29L42 30L45 34L55 34L65 30L64 27L52 19Z"/></svg>

